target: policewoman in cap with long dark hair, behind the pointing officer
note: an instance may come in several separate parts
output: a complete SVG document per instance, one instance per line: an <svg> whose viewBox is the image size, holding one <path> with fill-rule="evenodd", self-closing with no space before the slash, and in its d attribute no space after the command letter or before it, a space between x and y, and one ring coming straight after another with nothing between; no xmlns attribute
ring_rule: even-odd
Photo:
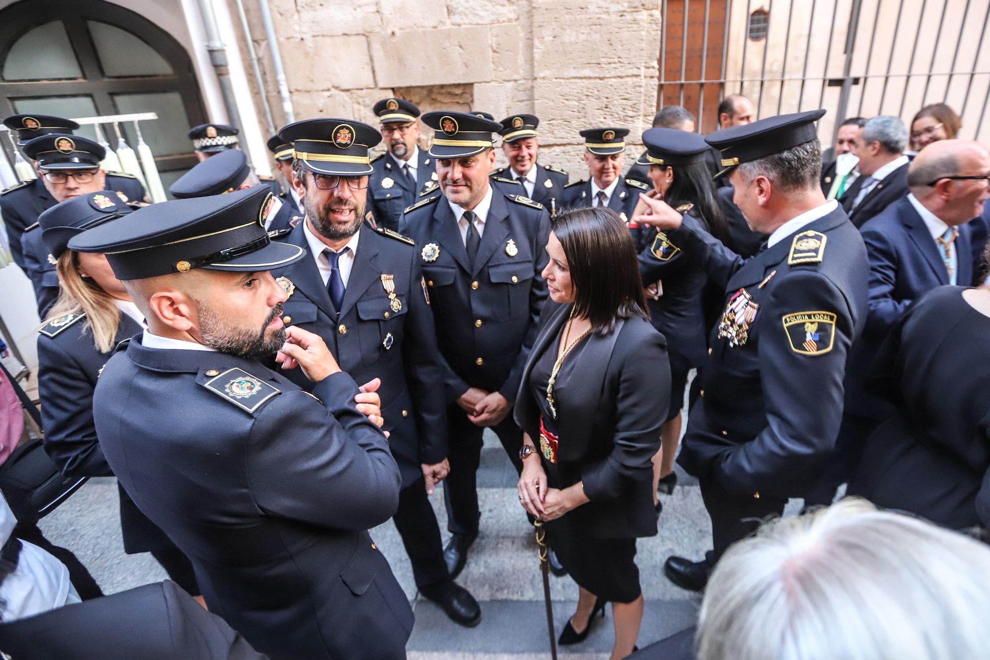
<svg viewBox="0 0 990 660"><path fill-rule="evenodd" d="M655 128L644 132L643 142L646 152L637 163L649 165L653 189L647 194L690 213L711 234L725 240L722 207L705 163L711 149L705 139L697 133ZM634 214L643 213L644 208L641 200ZM703 266L678 259L680 250L655 227L644 227L639 232L640 275L646 286L650 320L666 338L670 354L670 408L660 431L660 451L653 461L654 484L660 492L669 495L677 484L673 468L681 432L684 387L688 373L701 367L708 355L705 308L711 304L721 307L722 291L716 292L714 301L706 300L707 275ZM659 514L659 500L655 504Z"/></svg>

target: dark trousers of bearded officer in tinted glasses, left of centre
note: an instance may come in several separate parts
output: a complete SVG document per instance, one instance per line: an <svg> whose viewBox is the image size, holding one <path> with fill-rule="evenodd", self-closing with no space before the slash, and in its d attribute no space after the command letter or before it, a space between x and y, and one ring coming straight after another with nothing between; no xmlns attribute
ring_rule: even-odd
<svg viewBox="0 0 990 660"><path fill-rule="evenodd" d="M444 563L440 524L423 479L399 492L399 510L392 519L413 564L416 586L423 589L448 581L450 576Z"/></svg>

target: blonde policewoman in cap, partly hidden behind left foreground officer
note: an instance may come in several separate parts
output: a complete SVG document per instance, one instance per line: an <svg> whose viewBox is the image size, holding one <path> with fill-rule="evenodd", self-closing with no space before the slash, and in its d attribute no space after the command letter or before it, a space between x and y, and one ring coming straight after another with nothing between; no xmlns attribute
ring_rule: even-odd
<svg viewBox="0 0 990 660"><path fill-rule="evenodd" d="M59 285L58 299L38 337L38 391L45 450L66 476L113 475L96 438L93 391L114 347L145 328L144 314L106 257L66 246L76 234L130 211L118 193L101 190L69 198L38 219ZM189 559L123 489L120 500L124 550L150 552L169 578L201 600Z"/></svg>

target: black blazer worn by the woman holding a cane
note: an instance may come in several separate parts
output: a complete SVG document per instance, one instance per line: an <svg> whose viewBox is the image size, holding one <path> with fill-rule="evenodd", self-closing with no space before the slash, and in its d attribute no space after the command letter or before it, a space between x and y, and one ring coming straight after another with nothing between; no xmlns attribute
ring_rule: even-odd
<svg viewBox="0 0 990 660"><path fill-rule="evenodd" d="M547 305L543 328L523 371L516 423L540 437L540 407L530 389L535 357L555 351L571 305ZM608 335L592 334L580 361L554 396L561 488L584 483L591 500L567 515L600 538L656 533L652 463L670 399L666 340L649 321L619 321Z"/></svg>

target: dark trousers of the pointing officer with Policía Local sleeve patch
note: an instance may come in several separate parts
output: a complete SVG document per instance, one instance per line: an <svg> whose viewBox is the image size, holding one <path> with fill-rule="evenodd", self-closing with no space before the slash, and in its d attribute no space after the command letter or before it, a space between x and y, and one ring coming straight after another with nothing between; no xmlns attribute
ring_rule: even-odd
<svg viewBox="0 0 990 660"><path fill-rule="evenodd" d="M699 479L701 498L712 518L712 547L705 554L710 566L725 554L736 541L756 531L767 516L781 515L786 499L769 496L733 495L726 492L712 477Z"/></svg>

